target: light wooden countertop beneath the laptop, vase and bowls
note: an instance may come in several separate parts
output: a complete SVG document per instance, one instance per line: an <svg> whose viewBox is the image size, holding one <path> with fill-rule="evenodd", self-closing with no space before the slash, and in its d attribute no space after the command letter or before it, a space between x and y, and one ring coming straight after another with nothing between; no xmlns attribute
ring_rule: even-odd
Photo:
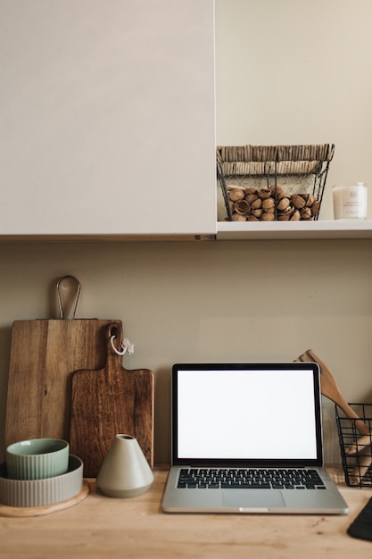
<svg viewBox="0 0 372 559"><path fill-rule="evenodd" d="M45 516L0 517L2 559L340 559L372 554L372 542L351 538L346 529L372 496L369 488L348 488L332 471L350 506L344 516L257 514L167 514L161 497L168 469L155 469L152 488L132 499L95 491L78 505Z"/></svg>

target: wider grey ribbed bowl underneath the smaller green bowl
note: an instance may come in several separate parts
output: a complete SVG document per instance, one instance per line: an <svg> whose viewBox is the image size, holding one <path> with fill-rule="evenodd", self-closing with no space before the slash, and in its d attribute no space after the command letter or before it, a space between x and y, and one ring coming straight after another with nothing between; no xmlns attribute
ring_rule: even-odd
<svg viewBox="0 0 372 559"><path fill-rule="evenodd" d="M69 470L44 480L9 480L6 463L0 464L0 504L7 506L54 505L70 499L83 487L83 461L69 456Z"/></svg>

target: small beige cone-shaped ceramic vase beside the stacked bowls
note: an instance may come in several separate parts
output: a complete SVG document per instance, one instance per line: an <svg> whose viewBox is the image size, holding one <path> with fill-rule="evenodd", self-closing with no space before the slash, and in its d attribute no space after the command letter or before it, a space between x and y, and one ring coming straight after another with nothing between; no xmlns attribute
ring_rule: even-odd
<svg viewBox="0 0 372 559"><path fill-rule="evenodd" d="M97 487L107 496L131 497L145 493L153 471L136 438L116 435L97 476Z"/></svg>

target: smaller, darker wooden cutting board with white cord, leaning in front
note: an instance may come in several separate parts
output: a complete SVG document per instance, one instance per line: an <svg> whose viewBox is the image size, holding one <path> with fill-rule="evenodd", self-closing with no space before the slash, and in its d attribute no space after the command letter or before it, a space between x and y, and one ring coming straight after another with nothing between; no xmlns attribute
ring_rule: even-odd
<svg viewBox="0 0 372 559"><path fill-rule="evenodd" d="M106 327L104 367L76 371L72 377L70 448L83 460L86 477L97 476L117 434L135 437L153 468L153 371L124 369L112 341L119 350L118 321Z"/></svg>

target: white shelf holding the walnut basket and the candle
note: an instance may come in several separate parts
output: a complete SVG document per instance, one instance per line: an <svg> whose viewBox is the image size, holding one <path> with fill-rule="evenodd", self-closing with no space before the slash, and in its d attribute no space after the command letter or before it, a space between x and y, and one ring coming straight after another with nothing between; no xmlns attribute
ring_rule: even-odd
<svg viewBox="0 0 372 559"><path fill-rule="evenodd" d="M372 238L372 221L218 221L217 240Z"/></svg>

